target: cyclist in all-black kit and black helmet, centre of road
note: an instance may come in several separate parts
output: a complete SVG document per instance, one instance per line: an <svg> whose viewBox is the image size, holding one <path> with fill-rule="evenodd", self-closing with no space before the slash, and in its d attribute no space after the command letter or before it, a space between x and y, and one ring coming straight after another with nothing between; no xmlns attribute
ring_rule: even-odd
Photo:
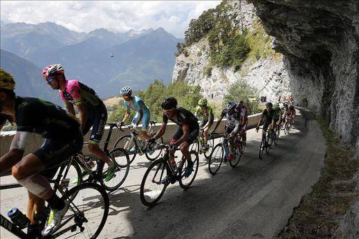
<svg viewBox="0 0 359 239"><path fill-rule="evenodd" d="M185 160L187 160L187 168L185 169L184 175L185 177L189 177L193 171L193 162L188 148L199 135L199 123L197 122L197 118L190 111L187 111L181 106L177 106L177 100L174 97L165 98L161 107L164 111L163 123L156 135L149 139L149 142L154 143L165 134L168 120L178 124L178 129L172 136L169 144L171 145L172 150L179 146L181 153L185 157ZM165 178L163 184L167 184L167 180L168 179Z"/></svg>

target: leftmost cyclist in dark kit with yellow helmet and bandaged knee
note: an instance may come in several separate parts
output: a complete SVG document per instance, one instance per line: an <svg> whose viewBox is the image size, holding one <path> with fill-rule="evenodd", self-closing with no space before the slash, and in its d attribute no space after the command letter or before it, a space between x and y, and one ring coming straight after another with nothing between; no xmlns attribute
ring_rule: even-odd
<svg viewBox="0 0 359 239"><path fill-rule="evenodd" d="M53 178L59 164L82 149L84 139L80 122L73 115L43 99L18 97L14 89L12 75L0 69L0 129L9 118L17 125L8 153L0 158L0 173L11 169L17 182L28 190L29 237L39 236L35 212L41 215L44 200L48 202L53 219L42 231L46 236L59 227L68 209L68 202L54 193L48 178ZM24 156L33 133L46 140L35 152Z"/></svg>

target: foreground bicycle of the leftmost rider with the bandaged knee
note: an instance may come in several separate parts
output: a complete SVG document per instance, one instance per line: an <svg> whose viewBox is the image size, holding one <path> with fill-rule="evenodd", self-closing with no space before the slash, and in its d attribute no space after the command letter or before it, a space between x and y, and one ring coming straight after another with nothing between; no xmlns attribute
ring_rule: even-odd
<svg viewBox="0 0 359 239"><path fill-rule="evenodd" d="M53 184L53 190L63 200L69 203L60 226L49 236L44 238L97 238L104 227L109 214L109 196L100 185L86 182L71 189L64 187L68 171L71 168L73 157L66 160L60 167L55 180L48 180ZM20 184L7 184L1 189L21 187ZM45 207L39 216L39 227L46 227L50 216L50 208ZM0 214L1 227L10 231L19 238L28 238L28 235L17 225Z"/></svg>

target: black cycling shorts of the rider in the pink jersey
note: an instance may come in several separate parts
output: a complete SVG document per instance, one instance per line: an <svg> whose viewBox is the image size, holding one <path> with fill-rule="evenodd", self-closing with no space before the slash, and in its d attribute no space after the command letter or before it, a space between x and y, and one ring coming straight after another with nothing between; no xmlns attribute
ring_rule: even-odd
<svg viewBox="0 0 359 239"><path fill-rule="evenodd" d="M101 141L102 135L104 134L104 126L107 122L107 110L104 108L102 111L95 111L92 113L86 121L84 130L82 133L86 135L90 131L92 126L92 131L90 135L90 143L98 144Z"/></svg>

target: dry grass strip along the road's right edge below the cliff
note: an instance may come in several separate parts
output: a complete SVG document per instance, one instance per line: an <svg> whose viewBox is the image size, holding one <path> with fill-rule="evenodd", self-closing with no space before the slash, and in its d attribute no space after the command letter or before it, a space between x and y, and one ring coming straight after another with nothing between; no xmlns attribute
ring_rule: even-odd
<svg viewBox="0 0 359 239"><path fill-rule="evenodd" d="M324 168L313 191L304 195L279 238L334 237L342 216L359 195L352 180L359 169L359 159L353 159L351 149L335 137L324 120L317 122L326 139Z"/></svg>

